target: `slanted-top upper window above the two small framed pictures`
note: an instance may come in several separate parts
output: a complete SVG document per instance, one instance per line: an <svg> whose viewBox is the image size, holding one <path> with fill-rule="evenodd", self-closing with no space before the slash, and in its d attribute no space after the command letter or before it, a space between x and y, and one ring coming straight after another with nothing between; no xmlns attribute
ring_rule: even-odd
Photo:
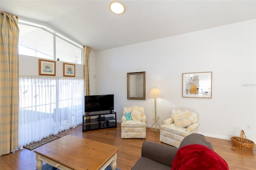
<svg viewBox="0 0 256 170"><path fill-rule="evenodd" d="M50 28L19 24L19 29L19 54L82 64L81 45L52 34Z"/></svg>

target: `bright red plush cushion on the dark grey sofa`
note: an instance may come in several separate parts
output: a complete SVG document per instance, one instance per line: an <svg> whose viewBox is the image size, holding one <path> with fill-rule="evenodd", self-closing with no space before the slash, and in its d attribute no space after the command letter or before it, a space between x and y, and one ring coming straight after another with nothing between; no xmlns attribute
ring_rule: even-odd
<svg viewBox="0 0 256 170"><path fill-rule="evenodd" d="M172 162L172 170L229 170L216 152L200 144L182 146Z"/></svg>

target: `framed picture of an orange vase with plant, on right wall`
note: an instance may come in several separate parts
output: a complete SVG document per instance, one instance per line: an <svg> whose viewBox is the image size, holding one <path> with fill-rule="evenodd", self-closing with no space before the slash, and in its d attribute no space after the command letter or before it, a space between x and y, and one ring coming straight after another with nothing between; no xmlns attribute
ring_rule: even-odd
<svg viewBox="0 0 256 170"><path fill-rule="evenodd" d="M182 97L212 98L212 71L182 73Z"/></svg>

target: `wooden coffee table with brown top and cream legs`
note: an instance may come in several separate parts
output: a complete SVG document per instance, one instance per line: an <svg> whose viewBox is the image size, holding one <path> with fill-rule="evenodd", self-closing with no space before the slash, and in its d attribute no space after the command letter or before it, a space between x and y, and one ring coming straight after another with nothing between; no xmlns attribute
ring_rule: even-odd
<svg viewBox="0 0 256 170"><path fill-rule="evenodd" d="M60 170L104 170L110 163L116 170L118 147L67 135L40 146L36 152L36 168L46 162Z"/></svg>

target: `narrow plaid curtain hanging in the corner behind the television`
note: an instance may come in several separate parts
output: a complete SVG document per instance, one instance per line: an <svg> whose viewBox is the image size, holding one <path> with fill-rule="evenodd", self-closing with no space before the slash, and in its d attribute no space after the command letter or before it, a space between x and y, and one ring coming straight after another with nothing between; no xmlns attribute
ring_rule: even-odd
<svg viewBox="0 0 256 170"><path fill-rule="evenodd" d="M85 95L90 95L90 47L84 47L84 92Z"/></svg>

